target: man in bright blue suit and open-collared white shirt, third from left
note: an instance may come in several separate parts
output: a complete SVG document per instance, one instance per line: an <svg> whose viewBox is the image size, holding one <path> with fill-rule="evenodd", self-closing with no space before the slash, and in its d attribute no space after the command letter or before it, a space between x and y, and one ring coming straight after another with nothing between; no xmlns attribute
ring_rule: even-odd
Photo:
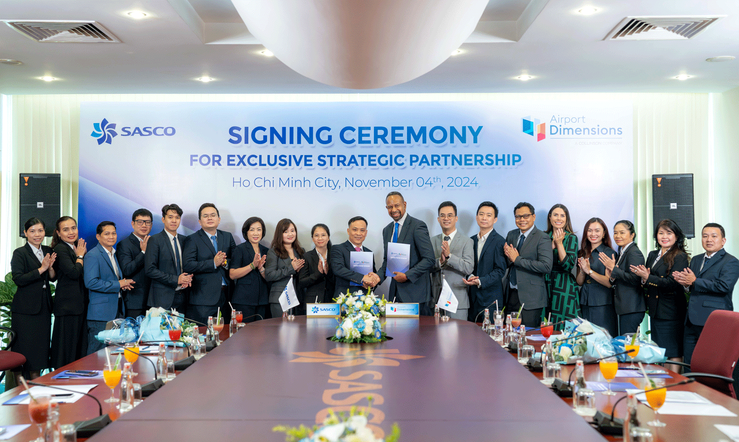
<svg viewBox="0 0 739 442"><path fill-rule="evenodd" d="M95 353L105 347L95 336L105 330L106 323L122 318L126 312L123 307L121 290L131 290L133 279L123 278L118 259L115 258L115 222L103 221L98 224L95 237L98 245L85 255L84 280L89 290L87 307L87 353Z"/></svg>

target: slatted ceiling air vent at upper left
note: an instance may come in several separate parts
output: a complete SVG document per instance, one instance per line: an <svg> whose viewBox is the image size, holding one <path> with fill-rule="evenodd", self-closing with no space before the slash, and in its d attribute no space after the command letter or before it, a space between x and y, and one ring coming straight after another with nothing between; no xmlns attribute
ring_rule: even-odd
<svg viewBox="0 0 739 442"><path fill-rule="evenodd" d="M33 41L44 43L120 43L97 21L4 20Z"/></svg>

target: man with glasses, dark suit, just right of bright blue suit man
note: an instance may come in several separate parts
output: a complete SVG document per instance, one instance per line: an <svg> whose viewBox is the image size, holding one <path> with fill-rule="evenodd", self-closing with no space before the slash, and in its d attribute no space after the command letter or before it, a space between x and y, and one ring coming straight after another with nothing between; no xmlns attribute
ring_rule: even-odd
<svg viewBox="0 0 739 442"><path fill-rule="evenodd" d="M132 234L118 242L115 249L115 257L123 271L123 277L133 279L134 288L123 295L126 302L126 316L137 318L146 311L146 297L149 293L149 278L143 271L144 255L146 245L149 243L149 232L151 232L151 212L146 208L134 211L131 217Z"/></svg>

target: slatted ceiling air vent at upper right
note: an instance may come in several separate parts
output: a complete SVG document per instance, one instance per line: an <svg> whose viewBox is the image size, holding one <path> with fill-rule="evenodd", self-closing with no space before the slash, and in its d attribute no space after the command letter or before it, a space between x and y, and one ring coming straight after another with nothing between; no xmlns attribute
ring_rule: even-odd
<svg viewBox="0 0 739 442"><path fill-rule="evenodd" d="M627 17L604 40L684 40L726 16Z"/></svg>

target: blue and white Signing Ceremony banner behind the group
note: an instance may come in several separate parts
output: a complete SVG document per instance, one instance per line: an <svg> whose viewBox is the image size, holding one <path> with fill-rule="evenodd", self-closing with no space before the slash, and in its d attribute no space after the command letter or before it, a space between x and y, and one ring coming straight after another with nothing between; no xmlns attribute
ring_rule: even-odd
<svg viewBox="0 0 739 442"><path fill-rule="evenodd" d="M609 229L633 219L627 101L94 102L82 104L80 127L79 225L89 247L103 220L118 224L119 239L129 234L141 207L154 214L152 234L162 230L169 203L183 208L180 231L190 234L200 205L214 203L236 242L248 217L265 220L265 245L290 218L307 249L314 224L339 243L361 215L379 267L389 191L432 236L445 200L467 236L482 201L500 209L504 237L521 201L542 230L549 208L567 205L581 239L590 217Z"/></svg>

